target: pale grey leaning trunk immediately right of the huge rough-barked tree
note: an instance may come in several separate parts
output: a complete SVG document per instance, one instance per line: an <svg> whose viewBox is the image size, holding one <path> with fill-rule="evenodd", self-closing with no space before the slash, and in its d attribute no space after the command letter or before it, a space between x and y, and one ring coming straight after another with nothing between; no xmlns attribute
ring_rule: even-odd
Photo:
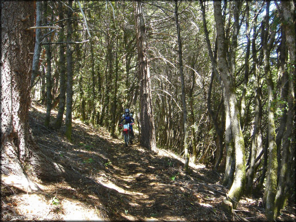
<svg viewBox="0 0 296 222"><path fill-rule="evenodd" d="M42 22L42 1L36 1L36 26L41 26ZM35 48L34 48L34 55L33 55L33 65L32 65L32 76L31 76L31 83L30 88L34 86L34 81L37 75L40 73L40 52L41 52L41 29L37 28L35 30L36 33L36 41L35 41Z"/></svg>

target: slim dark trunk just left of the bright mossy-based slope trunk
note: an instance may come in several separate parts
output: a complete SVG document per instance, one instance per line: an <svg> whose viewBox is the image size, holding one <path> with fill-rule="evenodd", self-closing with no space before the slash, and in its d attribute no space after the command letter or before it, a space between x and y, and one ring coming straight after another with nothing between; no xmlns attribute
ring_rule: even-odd
<svg viewBox="0 0 296 222"><path fill-rule="evenodd" d="M64 19L63 4L59 2L59 19ZM64 22L60 22L61 29L59 30L59 41L65 41L64 35ZM59 111L57 113L57 120L55 122L55 128L59 129L62 126L63 115L65 111L66 102L66 69L65 69L65 45L59 45Z"/></svg>

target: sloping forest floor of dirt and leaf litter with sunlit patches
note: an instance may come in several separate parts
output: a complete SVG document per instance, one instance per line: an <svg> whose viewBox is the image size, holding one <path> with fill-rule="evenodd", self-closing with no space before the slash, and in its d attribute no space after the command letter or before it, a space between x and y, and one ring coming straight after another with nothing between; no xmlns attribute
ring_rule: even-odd
<svg viewBox="0 0 296 222"><path fill-rule="evenodd" d="M46 107L33 102L30 126L40 149L81 175L76 181L47 182L35 178L41 193L24 194L1 186L1 219L15 220L145 220L145 221L263 221L261 199L240 200L237 215L221 210L228 190L222 175L160 149L148 152L135 143L125 147L104 128L91 128L73 119L72 142L43 125ZM52 111L52 122L57 112ZM94 184L95 183L95 184ZM52 199L56 204L51 204ZM295 205L282 210L277 221L295 221Z"/></svg>

